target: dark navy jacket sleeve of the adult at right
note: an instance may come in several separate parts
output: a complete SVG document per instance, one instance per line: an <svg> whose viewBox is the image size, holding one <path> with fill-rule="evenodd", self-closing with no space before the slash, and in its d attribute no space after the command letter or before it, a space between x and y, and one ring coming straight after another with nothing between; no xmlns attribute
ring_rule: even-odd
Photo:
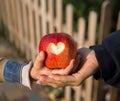
<svg viewBox="0 0 120 101"><path fill-rule="evenodd" d="M120 30L104 38L101 45L90 48L95 51L99 63L99 71L94 77L120 87Z"/></svg>

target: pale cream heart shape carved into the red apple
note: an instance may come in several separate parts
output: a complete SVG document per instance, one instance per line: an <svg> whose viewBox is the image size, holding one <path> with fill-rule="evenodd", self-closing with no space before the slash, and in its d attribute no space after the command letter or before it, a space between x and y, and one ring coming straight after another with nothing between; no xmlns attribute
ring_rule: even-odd
<svg viewBox="0 0 120 101"><path fill-rule="evenodd" d="M57 45L54 43L49 43L48 50L53 54L60 54L65 48L65 45L63 42L58 42Z"/></svg>

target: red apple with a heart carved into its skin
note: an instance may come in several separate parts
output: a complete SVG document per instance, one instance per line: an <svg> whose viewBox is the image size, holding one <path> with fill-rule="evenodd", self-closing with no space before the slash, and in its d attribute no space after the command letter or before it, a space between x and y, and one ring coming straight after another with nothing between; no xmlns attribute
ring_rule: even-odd
<svg viewBox="0 0 120 101"><path fill-rule="evenodd" d="M50 51L53 47L59 47L59 51ZM42 37L39 43L39 52L46 53L45 65L50 69L66 68L77 52L77 44L72 37L65 33L50 33Z"/></svg>

